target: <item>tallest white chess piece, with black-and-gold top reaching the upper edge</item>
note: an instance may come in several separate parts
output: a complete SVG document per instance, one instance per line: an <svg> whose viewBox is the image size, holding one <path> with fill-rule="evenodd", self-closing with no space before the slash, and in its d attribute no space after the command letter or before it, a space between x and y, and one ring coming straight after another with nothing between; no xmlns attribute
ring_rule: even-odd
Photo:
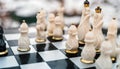
<svg viewBox="0 0 120 69"><path fill-rule="evenodd" d="M91 26L89 24L89 19L90 19L90 8L89 8L89 2L88 2L88 0L86 0L84 2L84 8L82 10L81 21L78 26L79 44L85 44L85 42L84 42L85 35L89 30L91 30Z"/></svg>

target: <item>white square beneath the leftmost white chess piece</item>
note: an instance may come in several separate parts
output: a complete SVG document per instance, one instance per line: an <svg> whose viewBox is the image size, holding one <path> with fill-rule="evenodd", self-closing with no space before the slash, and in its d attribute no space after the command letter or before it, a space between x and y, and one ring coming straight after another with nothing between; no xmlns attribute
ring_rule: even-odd
<svg viewBox="0 0 120 69"><path fill-rule="evenodd" d="M11 49L12 49L12 51L13 51L13 53L15 55L17 55L17 54L26 54L26 53L35 53L36 52L36 50L31 45L29 47L30 47L30 51L27 51L27 52L18 51L17 50L18 46L11 47Z"/></svg>

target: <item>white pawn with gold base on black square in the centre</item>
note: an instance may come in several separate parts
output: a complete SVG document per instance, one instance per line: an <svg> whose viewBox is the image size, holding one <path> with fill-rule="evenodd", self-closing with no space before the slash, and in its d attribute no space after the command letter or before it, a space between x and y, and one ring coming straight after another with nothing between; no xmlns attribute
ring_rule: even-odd
<svg viewBox="0 0 120 69"><path fill-rule="evenodd" d="M74 25L71 25L68 30L69 38L66 42L66 53L76 54L78 53L78 40L76 39L77 28Z"/></svg>

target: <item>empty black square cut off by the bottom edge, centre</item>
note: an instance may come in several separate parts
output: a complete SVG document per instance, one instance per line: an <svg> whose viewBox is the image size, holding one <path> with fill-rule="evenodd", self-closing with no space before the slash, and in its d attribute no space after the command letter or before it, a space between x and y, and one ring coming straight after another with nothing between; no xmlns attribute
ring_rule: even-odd
<svg viewBox="0 0 120 69"><path fill-rule="evenodd" d="M50 62L47 62L47 64L51 67L51 69L79 69L69 59L50 61Z"/></svg>

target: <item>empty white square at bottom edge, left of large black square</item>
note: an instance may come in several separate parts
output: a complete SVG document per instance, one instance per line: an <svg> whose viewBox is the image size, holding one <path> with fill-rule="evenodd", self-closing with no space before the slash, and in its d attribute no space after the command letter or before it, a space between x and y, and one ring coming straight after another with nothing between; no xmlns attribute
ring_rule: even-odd
<svg viewBox="0 0 120 69"><path fill-rule="evenodd" d="M20 67L22 69L51 69L46 62L25 64Z"/></svg>

